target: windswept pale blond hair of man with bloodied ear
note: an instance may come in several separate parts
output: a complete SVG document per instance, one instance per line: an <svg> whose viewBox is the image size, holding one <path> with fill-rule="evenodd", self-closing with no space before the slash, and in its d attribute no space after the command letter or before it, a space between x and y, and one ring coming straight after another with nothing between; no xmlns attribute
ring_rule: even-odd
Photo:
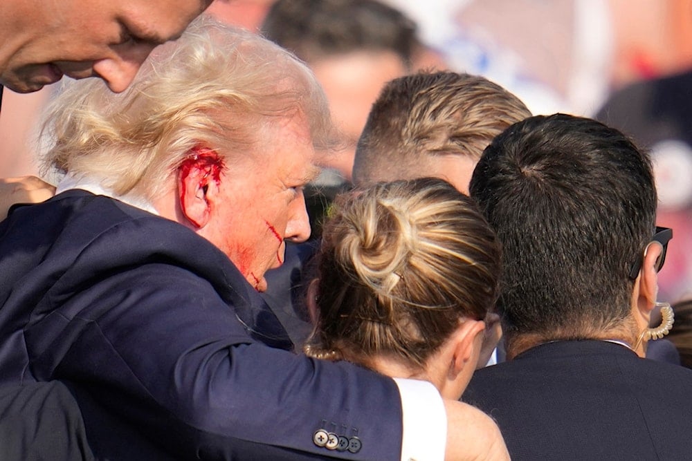
<svg viewBox="0 0 692 461"><path fill-rule="evenodd" d="M329 142L327 100L307 66L258 35L199 17L154 50L127 91L111 93L98 79L66 86L48 113L44 169L152 198L194 147L244 155L299 114L316 144ZM240 169L242 160L226 165Z"/></svg>

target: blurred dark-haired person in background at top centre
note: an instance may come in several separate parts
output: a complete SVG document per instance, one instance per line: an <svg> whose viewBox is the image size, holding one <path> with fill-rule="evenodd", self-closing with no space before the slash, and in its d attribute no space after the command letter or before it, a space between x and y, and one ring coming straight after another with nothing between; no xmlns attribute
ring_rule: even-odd
<svg viewBox="0 0 692 461"><path fill-rule="evenodd" d="M356 142L372 102L385 82L409 73L428 51L415 21L377 0L277 0L261 30L307 62L345 137L342 150L320 159L325 171L306 191L316 238L324 209L350 186Z"/></svg>

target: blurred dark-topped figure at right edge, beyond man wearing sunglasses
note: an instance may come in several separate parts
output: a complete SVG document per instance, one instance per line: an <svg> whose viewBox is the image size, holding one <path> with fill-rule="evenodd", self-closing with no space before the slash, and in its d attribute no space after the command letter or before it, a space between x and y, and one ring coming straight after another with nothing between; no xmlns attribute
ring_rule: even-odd
<svg viewBox="0 0 692 461"><path fill-rule="evenodd" d="M692 3L689 11L692 23ZM692 294L692 63L675 75L644 79L621 88L596 117L627 133L651 153L658 190L659 221L676 231L661 293L668 299Z"/></svg>

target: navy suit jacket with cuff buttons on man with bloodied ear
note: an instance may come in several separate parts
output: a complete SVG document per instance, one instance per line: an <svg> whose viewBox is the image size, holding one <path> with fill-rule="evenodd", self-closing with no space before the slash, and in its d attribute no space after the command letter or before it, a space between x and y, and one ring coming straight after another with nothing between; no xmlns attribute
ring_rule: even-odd
<svg viewBox="0 0 692 461"><path fill-rule="evenodd" d="M78 190L0 223L0 382L66 382L98 458L399 459L392 379L291 346L182 225Z"/></svg>

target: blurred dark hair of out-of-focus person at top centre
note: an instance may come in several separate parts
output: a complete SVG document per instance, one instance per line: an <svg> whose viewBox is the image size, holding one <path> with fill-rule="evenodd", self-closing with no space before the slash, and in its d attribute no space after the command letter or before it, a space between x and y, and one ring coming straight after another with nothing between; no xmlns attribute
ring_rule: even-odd
<svg viewBox="0 0 692 461"><path fill-rule="evenodd" d="M410 64L419 45L415 23L376 0L277 0L261 29L307 62L352 51L388 50Z"/></svg>

